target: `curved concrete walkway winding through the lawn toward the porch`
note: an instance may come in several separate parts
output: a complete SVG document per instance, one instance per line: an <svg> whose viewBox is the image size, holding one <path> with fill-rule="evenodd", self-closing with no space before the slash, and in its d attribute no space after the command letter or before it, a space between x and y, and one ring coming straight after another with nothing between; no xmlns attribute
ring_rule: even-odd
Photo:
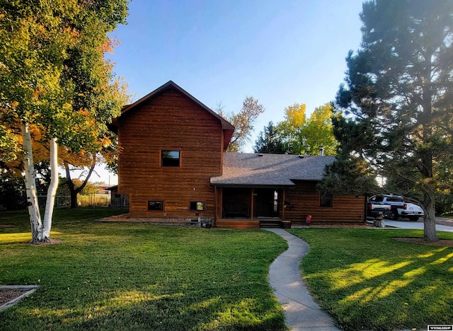
<svg viewBox="0 0 453 331"><path fill-rule="evenodd" d="M267 228L288 242L288 249L270 265L269 281L274 294L285 310L287 326L294 331L340 330L330 315L313 300L299 272L300 260L309 245L282 228Z"/></svg>

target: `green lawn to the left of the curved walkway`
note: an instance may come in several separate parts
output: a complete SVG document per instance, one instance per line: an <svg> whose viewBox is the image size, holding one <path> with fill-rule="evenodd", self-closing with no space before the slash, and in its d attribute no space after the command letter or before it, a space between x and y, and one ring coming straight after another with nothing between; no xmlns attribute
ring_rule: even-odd
<svg viewBox="0 0 453 331"><path fill-rule="evenodd" d="M98 223L119 209L57 210L53 245L25 212L0 213L0 284L40 284L1 330L285 330L268 284L287 244L268 231Z"/></svg>

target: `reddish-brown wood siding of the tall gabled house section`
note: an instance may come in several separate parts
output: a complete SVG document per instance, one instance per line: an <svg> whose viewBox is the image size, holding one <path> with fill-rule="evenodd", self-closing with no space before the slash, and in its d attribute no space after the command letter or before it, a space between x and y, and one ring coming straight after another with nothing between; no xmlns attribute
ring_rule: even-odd
<svg viewBox="0 0 453 331"><path fill-rule="evenodd" d="M211 175L222 173L220 121L170 89L122 115L118 192L130 194L130 216L156 219L214 217ZM161 150L180 151L180 167L161 167ZM148 211L148 201L164 211ZM191 211L190 202L204 202Z"/></svg>

